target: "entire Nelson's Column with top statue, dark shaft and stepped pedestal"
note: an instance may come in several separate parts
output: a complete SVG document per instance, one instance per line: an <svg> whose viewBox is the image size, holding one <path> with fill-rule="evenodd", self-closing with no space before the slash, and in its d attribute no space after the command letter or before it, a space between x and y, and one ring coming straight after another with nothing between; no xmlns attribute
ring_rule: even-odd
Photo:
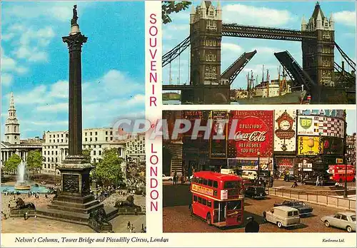
<svg viewBox="0 0 357 248"><path fill-rule="evenodd" d="M107 216L115 217L114 207L104 210L103 203L90 193L89 172L93 167L82 155L81 47L87 37L79 31L76 5L69 36L62 37L69 48L69 155L57 167L61 171L61 191L39 217L89 224L97 232L111 230Z"/></svg>

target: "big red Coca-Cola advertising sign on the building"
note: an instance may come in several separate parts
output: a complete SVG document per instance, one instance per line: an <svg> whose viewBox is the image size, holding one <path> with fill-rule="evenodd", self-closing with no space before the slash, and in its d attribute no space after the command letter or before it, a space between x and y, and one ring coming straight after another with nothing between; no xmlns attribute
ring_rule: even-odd
<svg viewBox="0 0 357 248"><path fill-rule="evenodd" d="M272 157L273 111L231 111L229 123L236 128L234 139L229 140L229 157Z"/></svg>

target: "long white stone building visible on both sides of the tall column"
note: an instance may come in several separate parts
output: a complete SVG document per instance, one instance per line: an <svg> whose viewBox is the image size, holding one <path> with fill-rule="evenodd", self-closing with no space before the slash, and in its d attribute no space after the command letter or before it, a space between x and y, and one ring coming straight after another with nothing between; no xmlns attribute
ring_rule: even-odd
<svg viewBox="0 0 357 248"><path fill-rule="evenodd" d="M68 131L44 133L45 142L42 144L42 156L44 162L42 172L54 173L56 166L69 154ZM113 128L88 128L82 130L82 148L91 150L91 162L101 160L103 151L108 148L118 149L119 157L126 160L125 141L114 139ZM121 170L126 175L126 162L123 162ZM57 170L57 173L59 171Z"/></svg>

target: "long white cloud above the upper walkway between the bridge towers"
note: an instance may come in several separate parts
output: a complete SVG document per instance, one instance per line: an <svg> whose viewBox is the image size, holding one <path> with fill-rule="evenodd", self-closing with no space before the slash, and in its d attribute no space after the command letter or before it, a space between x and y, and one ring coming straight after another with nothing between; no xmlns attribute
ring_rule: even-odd
<svg viewBox="0 0 357 248"><path fill-rule="evenodd" d="M228 23L249 24L256 26L277 26L293 21L293 14L286 10L266 7L229 4L223 6L223 21Z"/></svg>

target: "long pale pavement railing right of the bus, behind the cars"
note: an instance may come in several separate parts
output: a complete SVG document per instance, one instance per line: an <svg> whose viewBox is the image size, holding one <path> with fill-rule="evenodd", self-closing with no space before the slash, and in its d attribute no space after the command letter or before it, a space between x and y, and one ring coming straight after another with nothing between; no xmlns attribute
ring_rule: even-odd
<svg viewBox="0 0 357 248"><path fill-rule="evenodd" d="M311 202L317 205L324 205L328 207L336 207L342 210L356 211L356 200L336 197L333 195L318 195L298 190L269 188L269 195L283 197L293 200L301 200L304 202Z"/></svg>

